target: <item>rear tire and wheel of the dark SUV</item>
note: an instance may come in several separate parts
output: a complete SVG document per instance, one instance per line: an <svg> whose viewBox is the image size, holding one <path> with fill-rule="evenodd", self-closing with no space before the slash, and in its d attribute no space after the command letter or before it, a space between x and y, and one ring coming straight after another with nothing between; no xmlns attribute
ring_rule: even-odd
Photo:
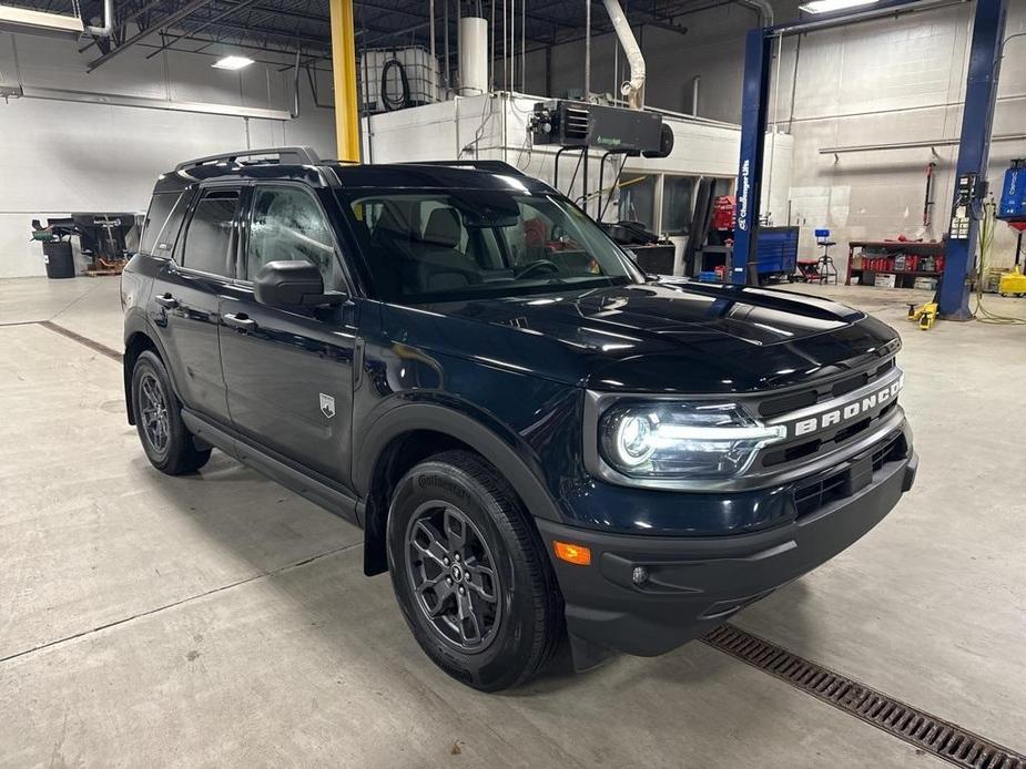
<svg viewBox="0 0 1026 769"><path fill-rule="evenodd" d="M167 369L150 350L139 356L132 369L132 411L146 459L162 473L195 472L210 460L211 450L197 449L182 421L182 404Z"/></svg>

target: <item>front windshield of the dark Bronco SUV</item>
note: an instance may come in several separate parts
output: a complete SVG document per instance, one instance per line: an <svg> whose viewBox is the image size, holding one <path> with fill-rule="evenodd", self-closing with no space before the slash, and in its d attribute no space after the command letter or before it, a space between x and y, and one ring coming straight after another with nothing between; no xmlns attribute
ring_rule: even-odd
<svg viewBox="0 0 1026 769"><path fill-rule="evenodd" d="M637 281L630 263L555 195L494 189L348 196L376 293L418 304Z"/></svg>

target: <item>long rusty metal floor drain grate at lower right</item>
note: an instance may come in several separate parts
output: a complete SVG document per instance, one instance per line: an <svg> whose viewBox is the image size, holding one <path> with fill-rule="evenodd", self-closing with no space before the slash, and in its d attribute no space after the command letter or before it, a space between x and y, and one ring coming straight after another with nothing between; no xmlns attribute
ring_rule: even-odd
<svg viewBox="0 0 1026 769"><path fill-rule="evenodd" d="M955 766L971 769L1026 769L1026 756L1022 753L905 705L732 625L721 625L702 640Z"/></svg>

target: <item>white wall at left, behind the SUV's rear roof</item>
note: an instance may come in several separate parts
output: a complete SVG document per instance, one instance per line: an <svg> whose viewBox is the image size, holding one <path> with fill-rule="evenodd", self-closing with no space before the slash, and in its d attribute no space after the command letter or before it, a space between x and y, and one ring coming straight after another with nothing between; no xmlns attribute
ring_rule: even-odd
<svg viewBox="0 0 1026 769"><path fill-rule="evenodd" d="M228 72L213 58L136 47L92 73L71 42L0 34L0 83L162 101L288 111L292 72L261 63ZM260 55L264 59L266 55ZM287 62L285 62L287 64ZM285 65L283 64L283 65ZM43 275L30 221L79 211L142 212L158 174L190 157L244 147L309 144L335 154L334 113L314 106L301 78L293 121L38 99L0 102L0 277ZM321 100L331 75L318 73Z"/></svg>

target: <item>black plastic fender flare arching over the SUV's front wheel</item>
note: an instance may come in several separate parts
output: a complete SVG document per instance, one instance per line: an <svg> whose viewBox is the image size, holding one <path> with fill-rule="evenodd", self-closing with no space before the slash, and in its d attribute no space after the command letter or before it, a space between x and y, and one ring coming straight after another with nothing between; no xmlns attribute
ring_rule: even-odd
<svg viewBox="0 0 1026 769"><path fill-rule="evenodd" d="M502 473L531 515L547 521L563 520L539 473L517 453L515 434L499 435L473 417L437 403L397 406L369 427L353 458L353 482L360 499L367 499L370 492L374 469L385 448L403 433L415 430L433 430L466 443Z"/></svg>

